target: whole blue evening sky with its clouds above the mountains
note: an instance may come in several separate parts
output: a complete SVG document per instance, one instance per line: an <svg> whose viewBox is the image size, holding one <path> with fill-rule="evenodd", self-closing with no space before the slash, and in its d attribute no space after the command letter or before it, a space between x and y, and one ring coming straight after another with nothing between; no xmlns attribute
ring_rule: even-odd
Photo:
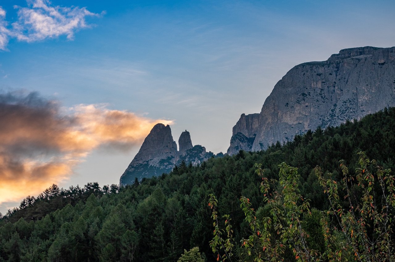
<svg viewBox="0 0 395 262"><path fill-rule="evenodd" d="M395 45L395 1L0 0L0 212L119 177L156 123L226 152L293 66Z"/></svg>

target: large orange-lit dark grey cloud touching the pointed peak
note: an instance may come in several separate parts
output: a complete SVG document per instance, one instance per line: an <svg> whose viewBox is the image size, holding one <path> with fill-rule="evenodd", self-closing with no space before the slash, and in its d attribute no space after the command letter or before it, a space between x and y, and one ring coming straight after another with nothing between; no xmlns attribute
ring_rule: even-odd
<svg viewBox="0 0 395 262"><path fill-rule="evenodd" d="M68 179L98 147L129 150L156 123L104 104L62 108L36 92L0 94L0 204Z"/></svg>

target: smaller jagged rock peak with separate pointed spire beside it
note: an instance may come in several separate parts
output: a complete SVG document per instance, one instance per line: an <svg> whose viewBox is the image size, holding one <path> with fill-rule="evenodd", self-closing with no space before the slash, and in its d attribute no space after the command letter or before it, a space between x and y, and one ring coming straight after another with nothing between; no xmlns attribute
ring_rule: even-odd
<svg viewBox="0 0 395 262"><path fill-rule="evenodd" d="M191 162L196 166L213 156L223 156L222 153L214 155L211 151L207 152L206 148L201 145L193 146L190 133L186 130L181 133L178 142L180 151L177 151L177 144L171 135L170 126L156 124L120 177L120 185L132 184L135 177L141 180L143 177L169 173L182 160L186 164Z"/></svg>

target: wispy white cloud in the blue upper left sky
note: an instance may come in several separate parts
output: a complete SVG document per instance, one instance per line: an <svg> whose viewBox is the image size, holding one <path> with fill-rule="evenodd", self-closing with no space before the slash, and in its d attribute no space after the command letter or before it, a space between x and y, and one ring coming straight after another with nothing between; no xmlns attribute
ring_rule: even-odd
<svg viewBox="0 0 395 262"><path fill-rule="evenodd" d="M89 28L86 17L100 16L87 8L51 6L47 0L26 0L28 7L14 6L18 9L17 21L6 21L6 11L0 7L0 49L7 50L10 38L19 41L35 42L65 35L73 40L74 33Z"/></svg>

